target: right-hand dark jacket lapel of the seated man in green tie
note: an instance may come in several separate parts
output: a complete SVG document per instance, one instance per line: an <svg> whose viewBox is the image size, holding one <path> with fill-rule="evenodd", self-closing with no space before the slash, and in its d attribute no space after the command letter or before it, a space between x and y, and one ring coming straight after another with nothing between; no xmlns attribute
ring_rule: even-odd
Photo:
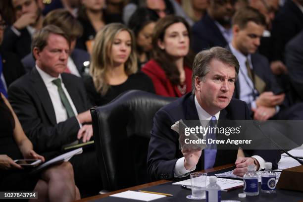
<svg viewBox="0 0 303 202"><path fill-rule="evenodd" d="M61 77L62 77L62 82L77 109L77 112L79 113L79 111L83 111L81 109L82 102L79 100L77 88L75 88L75 85L73 84L73 82L67 78L66 73L61 74Z"/></svg>

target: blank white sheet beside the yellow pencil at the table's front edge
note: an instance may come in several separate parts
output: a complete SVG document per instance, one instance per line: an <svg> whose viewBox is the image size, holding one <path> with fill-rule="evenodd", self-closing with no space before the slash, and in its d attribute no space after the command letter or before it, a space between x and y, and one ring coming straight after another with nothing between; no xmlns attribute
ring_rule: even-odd
<svg viewBox="0 0 303 202"><path fill-rule="evenodd" d="M133 200L149 202L155 199L161 199L166 196L159 194L144 193L144 192L126 191L126 192L110 195L110 197L118 197L124 199L133 199Z"/></svg>

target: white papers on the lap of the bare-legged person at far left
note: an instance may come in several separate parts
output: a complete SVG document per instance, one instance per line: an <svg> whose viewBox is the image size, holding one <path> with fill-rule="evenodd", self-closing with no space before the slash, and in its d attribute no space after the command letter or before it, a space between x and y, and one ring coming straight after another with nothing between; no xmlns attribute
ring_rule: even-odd
<svg viewBox="0 0 303 202"><path fill-rule="evenodd" d="M70 152L66 152L66 153L63 153L57 157L54 157L52 159L50 159L49 161L47 162L44 162L43 164L41 164L40 166L34 168L32 170L32 172L30 174L34 174L34 173L37 173L39 172L40 170L42 169L45 169L47 167L49 167L50 165L52 164L55 164L55 163L60 163L60 162L64 162L64 161L68 161L71 157L73 157L74 155L77 155L77 154L80 154L82 153L83 150L82 148L78 148L76 150L73 150L73 151L70 151Z"/></svg>

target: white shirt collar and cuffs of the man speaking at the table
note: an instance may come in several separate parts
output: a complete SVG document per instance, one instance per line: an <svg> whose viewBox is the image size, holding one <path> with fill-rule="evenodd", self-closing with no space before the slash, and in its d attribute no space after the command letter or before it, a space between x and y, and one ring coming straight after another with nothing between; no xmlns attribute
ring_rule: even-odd
<svg viewBox="0 0 303 202"><path fill-rule="evenodd" d="M195 106L198 112L198 116L200 120L210 120L212 115L208 114L199 104L196 96L195 96ZM217 120L219 120L219 116L220 116L220 111L218 113L216 113L214 115L216 117ZM265 168L265 161L261 156L258 155L253 155L252 157L254 157L260 164L259 170L264 169ZM181 157L176 161L175 164L175 168L174 168L174 177L175 178L179 178L179 177L186 177L187 175L189 175L189 173L193 170L196 169L196 166L194 166L191 170L187 170L184 167L184 160L185 157Z"/></svg>

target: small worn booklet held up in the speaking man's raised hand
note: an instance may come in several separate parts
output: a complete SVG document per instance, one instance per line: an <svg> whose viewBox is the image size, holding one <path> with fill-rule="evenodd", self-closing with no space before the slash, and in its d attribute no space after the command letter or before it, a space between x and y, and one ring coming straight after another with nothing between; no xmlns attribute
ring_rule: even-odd
<svg viewBox="0 0 303 202"><path fill-rule="evenodd" d="M189 139L189 140L195 140L198 141L199 137L197 136L197 134L195 133L191 133L189 136L186 136L183 132L180 133L181 131L179 131L179 124L182 125L184 128L187 128L187 125L185 125L185 123L180 120L180 121L176 121L170 128L174 131L176 131L179 134L179 143L181 145L181 149L205 149L206 148L206 144L186 144L185 143L185 139Z"/></svg>

